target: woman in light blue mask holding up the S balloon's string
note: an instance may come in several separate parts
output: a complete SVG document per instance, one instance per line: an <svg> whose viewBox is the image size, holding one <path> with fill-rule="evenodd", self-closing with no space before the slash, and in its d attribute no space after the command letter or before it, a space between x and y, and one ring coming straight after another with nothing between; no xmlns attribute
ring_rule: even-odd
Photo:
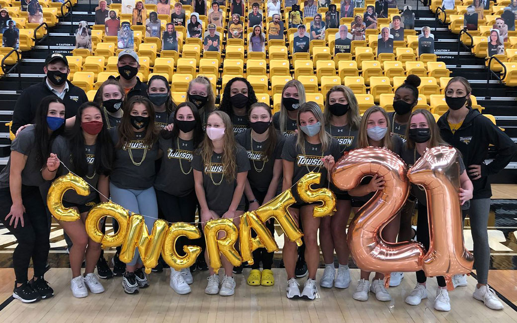
<svg viewBox="0 0 517 323"><path fill-rule="evenodd" d="M331 155L336 160L341 157L338 141L325 131L323 113L316 102L306 102L299 107L297 125L297 135L287 139L282 151L282 191L291 189L293 184L310 172L322 174L320 184L313 184L313 189L326 187L327 170L323 167L323 157ZM303 226L309 277L300 294L299 284L295 278L296 243L285 238L282 256L287 272L287 298L302 297L313 300L317 294L316 270L320 263L320 248L317 244L320 218L313 217L316 204L301 203L296 190L293 191L298 203L294 204L290 211L293 218Z"/></svg>

